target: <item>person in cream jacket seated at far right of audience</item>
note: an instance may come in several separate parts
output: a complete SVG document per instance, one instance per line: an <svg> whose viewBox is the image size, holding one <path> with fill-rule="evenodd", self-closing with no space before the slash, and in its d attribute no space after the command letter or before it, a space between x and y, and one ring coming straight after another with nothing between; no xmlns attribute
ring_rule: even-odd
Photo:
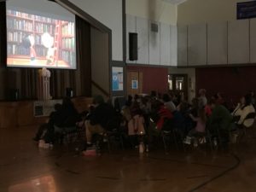
<svg viewBox="0 0 256 192"><path fill-rule="evenodd" d="M252 96L247 94L246 96L241 97L241 102L238 103L232 115L238 128L251 127L255 118Z"/></svg>

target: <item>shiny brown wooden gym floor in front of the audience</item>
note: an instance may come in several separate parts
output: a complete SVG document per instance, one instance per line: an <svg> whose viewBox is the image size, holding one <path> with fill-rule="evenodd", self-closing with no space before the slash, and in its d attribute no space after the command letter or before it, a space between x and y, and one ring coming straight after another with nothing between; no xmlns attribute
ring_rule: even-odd
<svg viewBox="0 0 256 192"><path fill-rule="evenodd" d="M255 192L256 138L229 151L137 150L84 157L39 149L36 127L0 130L1 192Z"/></svg>

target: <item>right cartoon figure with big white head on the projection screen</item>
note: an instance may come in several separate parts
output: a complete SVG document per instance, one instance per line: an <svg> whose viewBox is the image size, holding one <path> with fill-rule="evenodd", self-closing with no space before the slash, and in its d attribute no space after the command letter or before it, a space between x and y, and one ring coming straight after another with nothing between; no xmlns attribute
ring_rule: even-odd
<svg viewBox="0 0 256 192"><path fill-rule="evenodd" d="M44 32L42 35L42 44L47 48L46 55L46 65L52 66L55 65L55 47L54 47L54 38L49 35L48 32Z"/></svg>

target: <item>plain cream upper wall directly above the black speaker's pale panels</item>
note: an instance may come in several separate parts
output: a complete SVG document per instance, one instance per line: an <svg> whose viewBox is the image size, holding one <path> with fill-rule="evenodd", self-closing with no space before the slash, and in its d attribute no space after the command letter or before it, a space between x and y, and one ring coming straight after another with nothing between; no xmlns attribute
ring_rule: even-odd
<svg viewBox="0 0 256 192"><path fill-rule="evenodd" d="M126 0L126 14L170 25L177 23L177 5L162 0Z"/></svg>

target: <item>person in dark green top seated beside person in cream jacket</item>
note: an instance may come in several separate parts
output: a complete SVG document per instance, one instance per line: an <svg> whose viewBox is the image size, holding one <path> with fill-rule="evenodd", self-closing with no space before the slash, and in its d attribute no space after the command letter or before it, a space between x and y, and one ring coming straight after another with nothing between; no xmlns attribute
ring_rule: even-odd
<svg viewBox="0 0 256 192"><path fill-rule="evenodd" d="M232 116L227 108L217 102L218 96L212 96L212 114L207 120L207 126L213 137L218 137L222 143L228 143Z"/></svg>

